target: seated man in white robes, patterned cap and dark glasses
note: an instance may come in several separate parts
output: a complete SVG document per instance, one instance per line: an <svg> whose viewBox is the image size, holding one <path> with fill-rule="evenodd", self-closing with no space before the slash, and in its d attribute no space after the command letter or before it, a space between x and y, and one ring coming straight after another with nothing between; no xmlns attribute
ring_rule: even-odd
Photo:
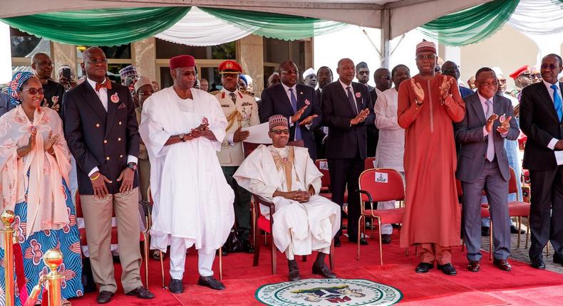
<svg viewBox="0 0 563 306"><path fill-rule="evenodd" d="M340 226L340 206L317 195L321 172L306 148L286 146L289 140L287 118L269 118L271 146L260 145L240 165L233 177L239 186L275 204L274 244L288 259L289 280L299 280L295 255L317 250L313 273L336 278L326 266L331 241ZM269 209L260 207L269 218Z"/></svg>

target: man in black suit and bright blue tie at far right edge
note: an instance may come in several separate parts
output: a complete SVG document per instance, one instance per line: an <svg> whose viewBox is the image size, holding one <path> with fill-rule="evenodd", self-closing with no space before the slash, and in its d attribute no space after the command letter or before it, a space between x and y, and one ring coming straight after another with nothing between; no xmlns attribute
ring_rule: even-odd
<svg viewBox="0 0 563 306"><path fill-rule="evenodd" d="M563 154L562 70L561 56L542 58L543 81L524 88L520 100L520 128L528 137L524 168L532 183L530 261L538 269L545 269L542 250L549 241L553 262L563 265L563 166L557 162Z"/></svg>

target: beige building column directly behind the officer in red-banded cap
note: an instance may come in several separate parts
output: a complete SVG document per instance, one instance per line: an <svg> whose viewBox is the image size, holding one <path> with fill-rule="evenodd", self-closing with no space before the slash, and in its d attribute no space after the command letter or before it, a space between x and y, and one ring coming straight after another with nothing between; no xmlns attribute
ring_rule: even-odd
<svg viewBox="0 0 563 306"><path fill-rule="evenodd" d="M245 75L250 75L254 95L259 97L264 90L264 39L251 34L238 41L237 58Z"/></svg>

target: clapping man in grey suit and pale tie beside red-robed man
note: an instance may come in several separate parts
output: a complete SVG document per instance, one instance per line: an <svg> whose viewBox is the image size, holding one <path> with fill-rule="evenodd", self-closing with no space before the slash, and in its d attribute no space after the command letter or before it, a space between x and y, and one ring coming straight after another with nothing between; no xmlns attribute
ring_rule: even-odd
<svg viewBox="0 0 563 306"><path fill-rule="evenodd" d="M465 118L455 125L455 139L461 144L458 171L463 189L463 232L468 246L468 270L479 271L481 259L481 192L485 190L490 205L495 245L493 264L501 270L512 267L508 218L508 181L510 171L505 152L505 138L517 139L520 131L512 118L512 104L495 95L498 80L491 68L475 74L477 92L465 101ZM488 119L486 119L488 118Z"/></svg>

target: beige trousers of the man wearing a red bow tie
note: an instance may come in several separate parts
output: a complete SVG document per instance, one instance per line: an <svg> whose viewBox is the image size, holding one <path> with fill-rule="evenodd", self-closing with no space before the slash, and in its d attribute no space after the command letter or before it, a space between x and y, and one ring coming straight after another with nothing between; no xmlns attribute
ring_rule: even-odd
<svg viewBox="0 0 563 306"><path fill-rule="evenodd" d="M99 286L98 290L113 293L117 290L110 250L112 210L117 218L119 259L123 269L121 285L125 292L142 286L139 274L141 255L138 189L135 188L128 194L109 194L104 199L81 195L80 200L92 274Z"/></svg>

